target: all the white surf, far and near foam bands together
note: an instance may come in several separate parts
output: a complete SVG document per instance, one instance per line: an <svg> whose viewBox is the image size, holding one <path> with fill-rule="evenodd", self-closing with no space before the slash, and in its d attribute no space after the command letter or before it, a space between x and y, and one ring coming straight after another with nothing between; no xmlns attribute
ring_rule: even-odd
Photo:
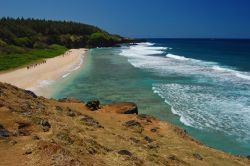
<svg viewBox="0 0 250 166"><path fill-rule="evenodd" d="M139 44L122 48L120 55L156 75L195 79L195 84L153 85L153 92L172 106L182 123L250 141L250 72L171 53L164 57L166 51L167 47Z"/></svg>

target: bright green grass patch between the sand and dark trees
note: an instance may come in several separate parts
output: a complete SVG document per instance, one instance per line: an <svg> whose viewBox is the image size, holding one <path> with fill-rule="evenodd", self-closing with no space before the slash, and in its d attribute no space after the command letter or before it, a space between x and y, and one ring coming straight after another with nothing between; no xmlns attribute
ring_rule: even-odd
<svg viewBox="0 0 250 166"><path fill-rule="evenodd" d="M53 58L67 51L60 45L51 45L45 49L24 49L22 52L9 54L0 52L0 71L23 67L42 59Z"/></svg>

